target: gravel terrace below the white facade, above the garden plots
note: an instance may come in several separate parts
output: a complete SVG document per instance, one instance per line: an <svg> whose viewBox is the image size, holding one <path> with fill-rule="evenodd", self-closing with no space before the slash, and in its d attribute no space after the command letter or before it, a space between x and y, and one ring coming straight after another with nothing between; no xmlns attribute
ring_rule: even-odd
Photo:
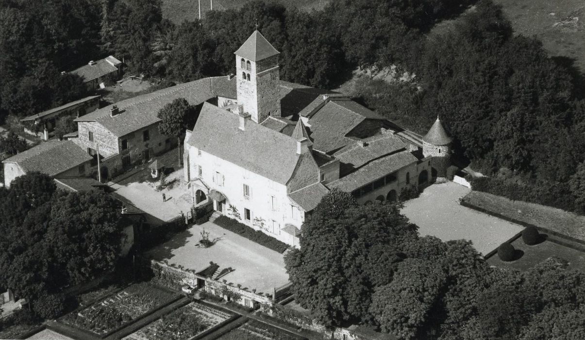
<svg viewBox="0 0 585 340"><path fill-rule="evenodd" d="M209 239L215 244L209 248L199 248L201 231L209 232ZM178 233L170 241L147 252L154 260L167 260L169 264L187 269L202 270L209 262L217 263L220 269L232 267L233 272L222 276L234 285L256 289L259 293L272 294L274 287L288 283L284 269L283 255L268 249L236 233L206 222L194 225Z"/></svg>

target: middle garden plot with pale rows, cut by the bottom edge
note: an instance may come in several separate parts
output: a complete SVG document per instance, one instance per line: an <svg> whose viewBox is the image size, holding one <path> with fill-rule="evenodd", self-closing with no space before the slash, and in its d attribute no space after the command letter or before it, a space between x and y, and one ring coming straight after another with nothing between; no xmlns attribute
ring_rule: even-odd
<svg viewBox="0 0 585 340"><path fill-rule="evenodd" d="M152 324L139 329L123 339L154 340L189 339L215 325L228 320L233 314L217 310L201 303L190 303L164 315Z"/></svg>

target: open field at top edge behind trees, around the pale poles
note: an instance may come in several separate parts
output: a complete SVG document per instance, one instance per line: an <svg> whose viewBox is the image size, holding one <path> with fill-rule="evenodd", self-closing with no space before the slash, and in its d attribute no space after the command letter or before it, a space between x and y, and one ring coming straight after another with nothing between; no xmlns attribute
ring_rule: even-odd
<svg viewBox="0 0 585 340"><path fill-rule="evenodd" d="M237 9L251 0L212 0L214 9L225 11L226 9ZM304 11L322 9L330 0L276 0L287 7L296 7ZM205 18L205 12L211 8L211 0L201 0L201 15ZM174 23L181 23L184 20L193 21L199 18L198 0L163 0L163 17Z"/></svg>

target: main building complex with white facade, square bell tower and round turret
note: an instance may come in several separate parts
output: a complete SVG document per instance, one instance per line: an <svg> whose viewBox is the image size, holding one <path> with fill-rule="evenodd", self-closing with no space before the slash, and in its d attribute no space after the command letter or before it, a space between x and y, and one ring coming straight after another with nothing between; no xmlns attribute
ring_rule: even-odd
<svg viewBox="0 0 585 340"><path fill-rule="evenodd" d="M305 216L333 188L370 204L432 183L433 163L450 153L439 120L422 138L343 94L281 81L278 54L254 32L235 52L236 101L204 104L187 131L195 202L298 246Z"/></svg>

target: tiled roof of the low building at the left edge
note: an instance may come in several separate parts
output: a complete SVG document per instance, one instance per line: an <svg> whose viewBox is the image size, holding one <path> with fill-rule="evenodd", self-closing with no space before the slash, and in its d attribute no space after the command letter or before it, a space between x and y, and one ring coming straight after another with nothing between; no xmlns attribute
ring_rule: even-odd
<svg viewBox="0 0 585 340"><path fill-rule="evenodd" d="M73 141L50 140L5 159L2 163L16 163L26 173L39 171L55 176L90 160L92 157Z"/></svg>

